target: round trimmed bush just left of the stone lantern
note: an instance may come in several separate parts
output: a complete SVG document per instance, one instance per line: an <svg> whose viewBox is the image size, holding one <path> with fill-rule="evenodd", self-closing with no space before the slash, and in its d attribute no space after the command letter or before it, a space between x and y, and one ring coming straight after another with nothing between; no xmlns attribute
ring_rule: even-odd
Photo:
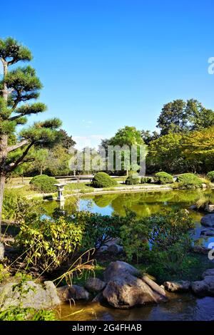
<svg viewBox="0 0 214 335"><path fill-rule="evenodd" d="M52 193L56 192L56 187L54 184L57 180L54 177L49 177L48 175L36 175L30 181L30 185L34 190L41 193Z"/></svg>

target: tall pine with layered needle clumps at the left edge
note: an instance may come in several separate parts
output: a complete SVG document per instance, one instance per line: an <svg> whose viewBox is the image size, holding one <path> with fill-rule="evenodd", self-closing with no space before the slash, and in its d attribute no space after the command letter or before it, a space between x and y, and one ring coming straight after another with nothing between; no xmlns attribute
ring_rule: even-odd
<svg viewBox="0 0 214 335"><path fill-rule="evenodd" d="M46 110L44 103L29 103L39 98L42 88L34 68L16 67L9 72L10 66L31 59L31 51L14 38L0 39L0 61L4 68L0 82L0 224L6 175L28 161L27 156L35 145L44 147L53 142L61 125L56 118L34 123L21 131L15 144L9 143L16 126L26 124L27 116Z"/></svg>

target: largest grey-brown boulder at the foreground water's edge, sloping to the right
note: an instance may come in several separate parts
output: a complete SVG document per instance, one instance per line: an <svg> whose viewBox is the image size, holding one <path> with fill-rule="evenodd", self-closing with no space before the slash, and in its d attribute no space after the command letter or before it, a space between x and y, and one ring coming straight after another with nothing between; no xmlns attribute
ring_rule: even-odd
<svg viewBox="0 0 214 335"><path fill-rule="evenodd" d="M148 276L141 277L135 267L125 262L111 262L104 273L104 279L108 284L103 297L115 308L128 309L166 300L164 289Z"/></svg>

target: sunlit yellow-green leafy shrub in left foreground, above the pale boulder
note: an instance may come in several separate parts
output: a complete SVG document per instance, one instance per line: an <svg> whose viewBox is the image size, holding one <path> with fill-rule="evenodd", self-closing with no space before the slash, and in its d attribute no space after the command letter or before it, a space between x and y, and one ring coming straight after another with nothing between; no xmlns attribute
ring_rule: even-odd
<svg viewBox="0 0 214 335"><path fill-rule="evenodd" d="M27 264L49 272L76 251L82 236L81 227L63 217L36 219L21 224L16 242L22 252L26 252Z"/></svg>

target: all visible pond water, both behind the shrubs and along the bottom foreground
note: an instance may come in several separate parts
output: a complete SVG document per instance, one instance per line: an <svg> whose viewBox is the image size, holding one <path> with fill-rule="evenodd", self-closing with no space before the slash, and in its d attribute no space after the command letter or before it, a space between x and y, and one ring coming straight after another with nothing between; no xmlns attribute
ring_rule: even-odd
<svg viewBox="0 0 214 335"><path fill-rule="evenodd" d="M183 190L167 192L136 192L126 194L108 195L86 195L80 199L69 197L66 199L64 209L72 212L74 209L90 210L101 215L125 215L126 208L136 212L138 217L146 217L162 213L165 209L185 208L195 204L201 195L209 194L214 201L213 190ZM49 215L54 208L58 207L58 202L46 203ZM195 239L200 244L207 246L214 242L214 237L200 238L200 219L203 214L190 211L190 215L195 221ZM110 306L101 304L80 303L76 306L63 304L61 306L62 320L105 320L105 321L184 321L184 320L214 320L214 298L204 297L198 299L192 294L169 294L170 299L164 304L143 306L126 311L112 309Z"/></svg>

